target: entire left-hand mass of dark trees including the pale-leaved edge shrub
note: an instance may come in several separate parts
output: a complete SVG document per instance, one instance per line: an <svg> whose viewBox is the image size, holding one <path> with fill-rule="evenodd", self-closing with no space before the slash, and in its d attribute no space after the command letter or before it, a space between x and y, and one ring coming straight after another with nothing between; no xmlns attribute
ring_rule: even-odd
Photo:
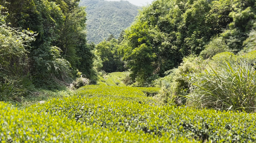
<svg viewBox="0 0 256 143"><path fill-rule="evenodd" d="M1 81L12 82L8 79L14 75L33 76L36 85L55 88L56 81L72 82L76 69L92 78L94 54L86 39L85 7L79 7L78 2L0 0L1 55L4 55L1 63L5 63L1 64L5 71L1 72Z"/></svg>

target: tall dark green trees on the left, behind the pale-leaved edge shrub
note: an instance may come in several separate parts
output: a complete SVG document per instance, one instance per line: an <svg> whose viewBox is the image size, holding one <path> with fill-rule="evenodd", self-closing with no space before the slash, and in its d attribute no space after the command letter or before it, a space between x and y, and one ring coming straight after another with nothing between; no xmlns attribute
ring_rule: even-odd
<svg viewBox="0 0 256 143"><path fill-rule="evenodd" d="M71 82L77 68L89 75L94 57L86 40L86 12L79 0L0 0L11 27L36 32L28 57L35 81ZM45 81L45 82L42 82Z"/></svg>

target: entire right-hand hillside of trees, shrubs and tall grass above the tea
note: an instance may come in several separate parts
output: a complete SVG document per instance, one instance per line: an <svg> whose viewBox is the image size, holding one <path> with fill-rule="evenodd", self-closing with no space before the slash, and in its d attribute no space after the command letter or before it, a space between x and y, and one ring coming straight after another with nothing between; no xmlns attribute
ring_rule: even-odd
<svg viewBox="0 0 256 143"><path fill-rule="evenodd" d="M255 5L154 1L122 37L95 46L93 66L128 69L126 85L160 87L157 97L167 104L254 112Z"/></svg>

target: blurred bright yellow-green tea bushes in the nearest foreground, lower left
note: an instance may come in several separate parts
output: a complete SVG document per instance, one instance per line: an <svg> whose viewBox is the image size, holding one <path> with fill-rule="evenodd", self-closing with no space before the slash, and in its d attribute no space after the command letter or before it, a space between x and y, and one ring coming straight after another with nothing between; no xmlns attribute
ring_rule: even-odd
<svg viewBox="0 0 256 143"><path fill-rule="evenodd" d="M153 134L103 128L99 124L88 126L66 117L46 113L18 110L0 102L0 142L165 142L168 138ZM175 140L189 142L178 136Z"/></svg>

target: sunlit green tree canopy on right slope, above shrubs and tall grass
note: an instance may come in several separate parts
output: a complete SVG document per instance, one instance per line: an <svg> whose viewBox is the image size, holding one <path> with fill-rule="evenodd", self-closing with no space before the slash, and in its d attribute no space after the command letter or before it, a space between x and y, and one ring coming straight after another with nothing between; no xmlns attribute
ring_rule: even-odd
<svg viewBox="0 0 256 143"><path fill-rule="evenodd" d="M134 81L150 83L191 54L239 52L255 19L255 0L157 0L125 31L123 61Z"/></svg>

